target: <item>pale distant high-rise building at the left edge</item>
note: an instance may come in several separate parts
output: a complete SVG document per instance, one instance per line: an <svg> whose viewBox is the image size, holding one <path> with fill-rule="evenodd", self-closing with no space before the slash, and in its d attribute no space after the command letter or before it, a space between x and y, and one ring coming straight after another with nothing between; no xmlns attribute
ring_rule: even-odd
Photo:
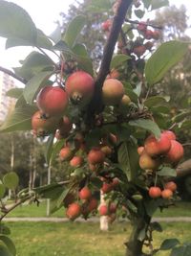
<svg viewBox="0 0 191 256"><path fill-rule="evenodd" d="M15 83L11 76L0 72L0 124L5 121L7 115L15 105L15 99L6 95L14 87Z"/></svg>

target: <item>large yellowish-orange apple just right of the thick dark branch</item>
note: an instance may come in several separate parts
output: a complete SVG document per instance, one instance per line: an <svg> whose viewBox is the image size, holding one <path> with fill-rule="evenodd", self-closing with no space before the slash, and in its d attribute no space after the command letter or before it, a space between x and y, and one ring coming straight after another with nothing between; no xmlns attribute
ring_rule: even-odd
<svg viewBox="0 0 191 256"><path fill-rule="evenodd" d="M102 87L102 100L104 105L118 105L124 95L123 84L115 79L107 79Z"/></svg>

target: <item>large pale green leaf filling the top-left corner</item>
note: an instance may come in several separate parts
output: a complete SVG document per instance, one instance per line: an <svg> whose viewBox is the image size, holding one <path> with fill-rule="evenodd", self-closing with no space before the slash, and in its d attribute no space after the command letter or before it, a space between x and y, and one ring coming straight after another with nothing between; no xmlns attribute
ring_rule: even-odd
<svg viewBox="0 0 191 256"><path fill-rule="evenodd" d="M36 41L36 28L31 16L21 7L0 1L0 36Z"/></svg>

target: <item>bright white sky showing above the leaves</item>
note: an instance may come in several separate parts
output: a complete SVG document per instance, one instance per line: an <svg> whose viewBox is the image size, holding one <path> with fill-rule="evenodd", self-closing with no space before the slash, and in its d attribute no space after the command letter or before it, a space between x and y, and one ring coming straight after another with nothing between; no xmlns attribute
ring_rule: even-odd
<svg viewBox="0 0 191 256"><path fill-rule="evenodd" d="M32 17L36 27L46 35L50 35L56 27L55 21L60 12L67 12L69 5L74 0L11 0L11 2L24 8ZM184 4L187 10L191 10L189 0L170 0L170 4L180 6ZM191 13L191 12L190 12ZM189 15L189 13L187 12ZM24 59L31 51L30 47L13 47L5 50L5 39L0 37L0 65L11 68L18 66L18 60Z"/></svg>

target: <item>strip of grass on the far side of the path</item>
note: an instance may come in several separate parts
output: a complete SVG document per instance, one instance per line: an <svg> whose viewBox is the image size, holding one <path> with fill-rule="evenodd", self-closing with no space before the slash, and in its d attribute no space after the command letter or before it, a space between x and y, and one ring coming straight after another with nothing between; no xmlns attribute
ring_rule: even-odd
<svg viewBox="0 0 191 256"><path fill-rule="evenodd" d="M156 212L155 217L191 217L191 202L180 201L176 206L164 209L162 213ZM36 204L22 205L14 209L8 217L46 217L46 201ZM52 217L65 217L64 208L55 212Z"/></svg>

